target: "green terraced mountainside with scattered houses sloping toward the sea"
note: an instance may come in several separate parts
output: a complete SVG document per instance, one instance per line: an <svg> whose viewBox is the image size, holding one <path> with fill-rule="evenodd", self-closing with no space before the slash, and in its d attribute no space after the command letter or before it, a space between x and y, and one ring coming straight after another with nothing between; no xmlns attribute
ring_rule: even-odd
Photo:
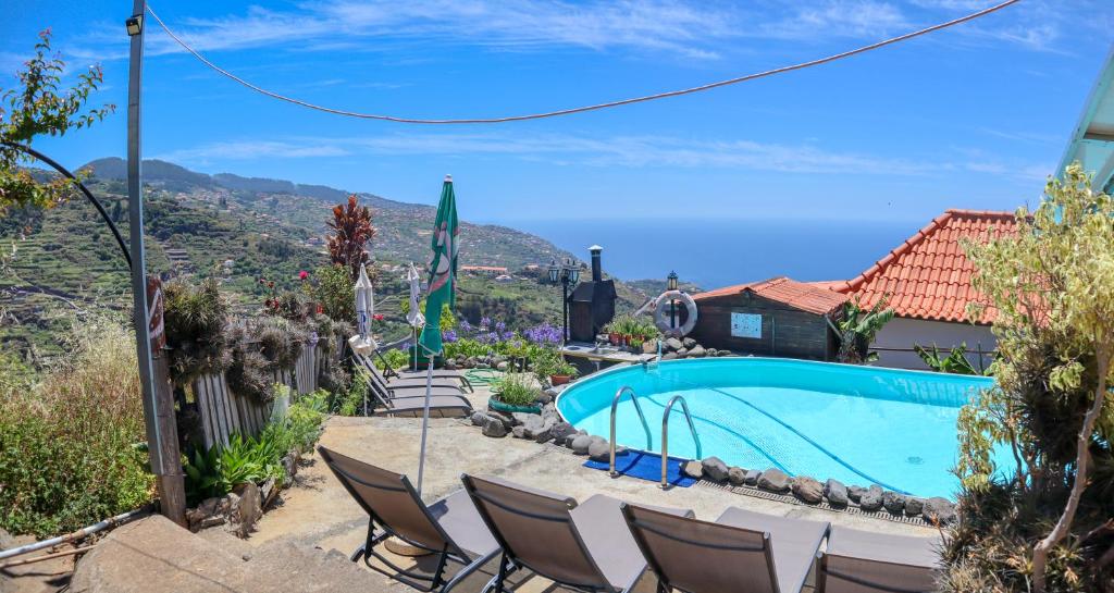
<svg viewBox="0 0 1114 593"><path fill-rule="evenodd" d="M87 185L127 236L126 166L94 161ZM325 223L349 192L282 179L206 175L160 161L144 162L147 261L152 272L217 276L236 311L258 311L266 289L299 289L299 272L328 263ZM408 285L402 268L429 256L436 208L356 194L372 210L377 229L369 245L378 273L377 312L383 333L404 333L399 305ZM461 212L467 216L467 212ZM461 265L506 268L511 280L462 273L458 313L470 321L501 319L511 328L559 322L560 290L545 284L545 266L566 253L529 233L461 222ZM12 212L0 218L0 342L50 356L75 319L128 308L128 273L111 234L92 207L72 201L47 212ZM12 245L11 255L8 255ZM606 263L606 262L605 262ZM645 294L618 282L620 310Z"/></svg>

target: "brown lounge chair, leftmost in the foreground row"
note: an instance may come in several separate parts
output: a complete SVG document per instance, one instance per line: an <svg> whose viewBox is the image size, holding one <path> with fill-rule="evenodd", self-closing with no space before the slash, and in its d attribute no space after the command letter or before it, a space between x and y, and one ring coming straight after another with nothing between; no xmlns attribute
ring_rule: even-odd
<svg viewBox="0 0 1114 593"><path fill-rule="evenodd" d="M476 506L463 490L457 490L427 506L410 480L401 474L317 447L325 465L344 489L368 513L368 538L352 554L352 562L364 564L399 582L421 591L448 592L480 566L499 554L499 544L488 531ZM402 568L375 550L388 537L437 554L432 575ZM378 558L392 572L373 564ZM450 580L444 570L449 562L462 565Z"/></svg>

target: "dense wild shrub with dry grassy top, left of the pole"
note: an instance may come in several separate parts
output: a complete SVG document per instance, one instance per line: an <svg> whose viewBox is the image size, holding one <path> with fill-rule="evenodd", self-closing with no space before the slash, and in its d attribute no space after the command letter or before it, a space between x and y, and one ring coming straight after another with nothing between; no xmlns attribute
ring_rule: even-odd
<svg viewBox="0 0 1114 593"><path fill-rule="evenodd" d="M95 320L76 334L38 383L0 380L0 527L16 534L69 532L153 497L131 333Z"/></svg>

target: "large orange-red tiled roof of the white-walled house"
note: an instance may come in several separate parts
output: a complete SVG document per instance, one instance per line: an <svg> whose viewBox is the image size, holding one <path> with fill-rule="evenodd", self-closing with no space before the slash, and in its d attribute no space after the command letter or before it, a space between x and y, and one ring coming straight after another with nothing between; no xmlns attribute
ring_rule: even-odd
<svg viewBox="0 0 1114 593"><path fill-rule="evenodd" d="M858 296L863 307L886 296L898 317L987 324L997 314L990 307L978 319L967 315L967 303L984 300L971 286L975 266L959 241L988 241L1016 232L1009 212L949 210L866 272L831 290Z"/></svg>

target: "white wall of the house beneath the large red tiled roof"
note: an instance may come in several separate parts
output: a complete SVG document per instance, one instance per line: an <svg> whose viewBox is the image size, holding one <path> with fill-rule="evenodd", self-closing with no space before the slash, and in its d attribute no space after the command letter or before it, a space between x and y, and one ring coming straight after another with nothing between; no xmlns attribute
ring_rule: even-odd
<svg viewBox="0 0 1114 593"><path fill-rule="evenodd" d="M981 346L984 352L990 352L997 344L989 325L893 318L874 337L871 348L912 349L913 344L926 348L936 344L940 350L950 350L965 342L967 343L967 358L976 369L979 368L977 347ZM984 356L983 362L989 364L990 356ZM876 364L900 369L927 368L916 352L879 351Z"/></svg>

